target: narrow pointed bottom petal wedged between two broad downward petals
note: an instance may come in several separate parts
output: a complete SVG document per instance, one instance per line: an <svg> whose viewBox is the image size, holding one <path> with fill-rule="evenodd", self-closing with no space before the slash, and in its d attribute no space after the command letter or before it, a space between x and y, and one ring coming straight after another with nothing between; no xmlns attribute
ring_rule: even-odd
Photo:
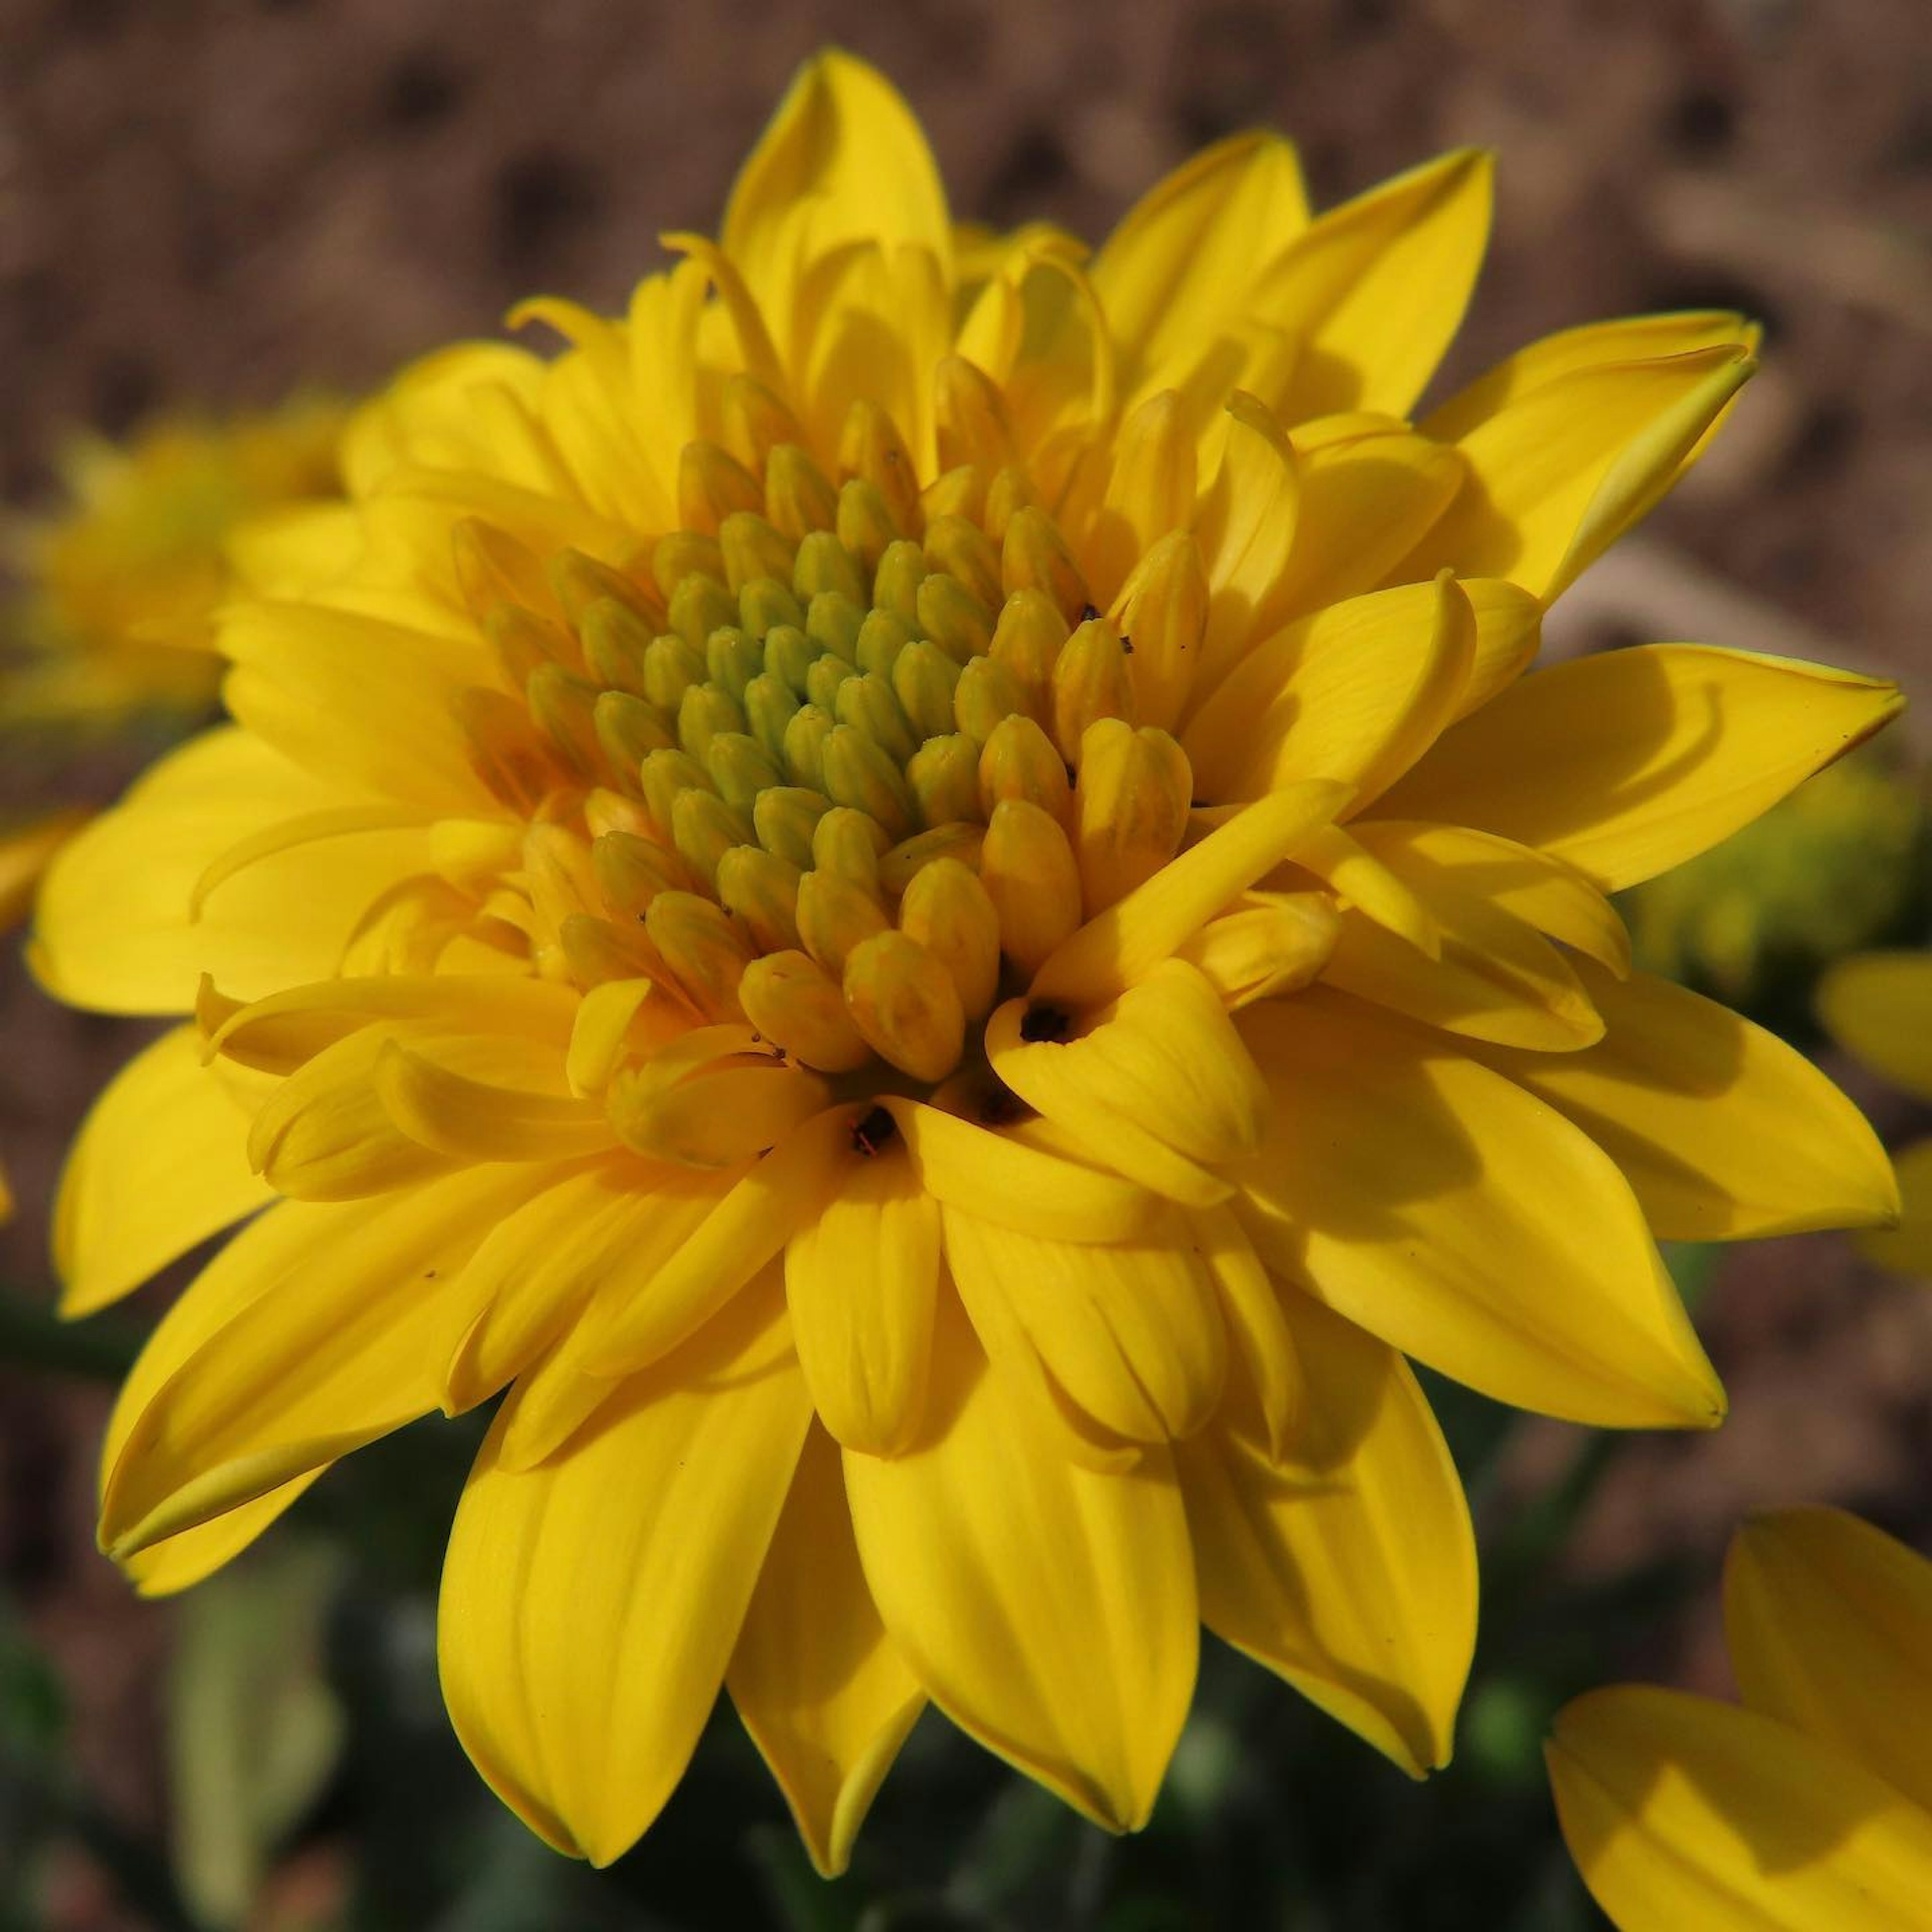
<svg viewBox="0 0 1932 1932"><path fill-rule="evenodd" d="M837 1878L925 1692L873 1609L823 1430L806 1437L724 1683L813 1866Z"/></svg>

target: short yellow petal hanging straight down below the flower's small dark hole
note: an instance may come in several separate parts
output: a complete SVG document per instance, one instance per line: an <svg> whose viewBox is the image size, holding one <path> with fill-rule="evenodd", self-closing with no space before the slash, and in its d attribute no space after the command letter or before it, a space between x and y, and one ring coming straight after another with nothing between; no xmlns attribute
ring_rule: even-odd
<svg viewBox="0 0 1932 1932"><path fill-rule="evenodd" d="M846 1169L784 1246L792 1339L819 1420L846 1449L895 1455L925 1406L939 1204L904 1146Z"/></svg>

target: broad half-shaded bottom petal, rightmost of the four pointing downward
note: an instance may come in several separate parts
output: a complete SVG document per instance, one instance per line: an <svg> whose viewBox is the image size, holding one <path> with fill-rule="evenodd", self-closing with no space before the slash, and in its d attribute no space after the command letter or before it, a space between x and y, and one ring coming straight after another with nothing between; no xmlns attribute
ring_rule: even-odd
<svg viewBox="0 0 1932 1932"><path fill-rule="evenodd" d="M1306 1403L1281 1459L1175 1451L1202 1621L1412 1777L1449 1762L1476 1644L1463 1484L1408 1364L1294 1293Z"/></svg>

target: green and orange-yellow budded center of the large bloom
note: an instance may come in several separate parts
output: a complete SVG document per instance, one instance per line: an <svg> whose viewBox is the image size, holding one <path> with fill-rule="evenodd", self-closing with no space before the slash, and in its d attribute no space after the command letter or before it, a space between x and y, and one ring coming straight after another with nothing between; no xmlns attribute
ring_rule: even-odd
<svg viewBox="0 0 1932 1932"><path fill-rule="evenodd" d="M1132 641L1020 471L920 493L891 423L856 421L838 485L798 442L757 469L688 446L647 578L539 570L466 524L466 591L527 699L473 692L466 726L531 821L539 970L647 978L821 1074L939 1084L1003 991L1173 858L1190 771L1136 728Z"/></svg>

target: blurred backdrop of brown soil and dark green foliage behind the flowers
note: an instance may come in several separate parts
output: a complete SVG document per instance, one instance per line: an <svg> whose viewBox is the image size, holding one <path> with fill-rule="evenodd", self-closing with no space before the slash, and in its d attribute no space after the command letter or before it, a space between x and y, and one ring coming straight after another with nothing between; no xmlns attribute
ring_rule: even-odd
<svg viewBox="0 0 1932 1932"><path fill-rule="evenodd" d="M1551 649L1696 636L1911 688L1932 636L1926 33L1918 0L1642 0L1615 17L1586 0L1534 17L962 0L765 10L755 31L605 0L19 0L0 62L0 483L43 514L75 423L112 440L178 406L367 390L537 286L618 303L657 228L715 218L771 99L831 37L895 73L958 205L1001 226L1101 232L1252 122L1300 141L1321 205L1424 153L1499 147L1495 251L1443 392L1592 315L1718 305L1768 325L1725 439L1565 599ZM54 796L99 802L156 748L64 740L71 788ZM46 773L15 746L0 804L44 810ZM1917 945L1922 922L1897 918L1859 943ZM0 1926L1596 1926L1540 1764L1553 1710L1633 1673L1725 1690L1704 1584L1747 1507L1839 1499L1920 1548L1932 1528L1922 1293L1832 1236L1721 1267L1679 1250L1733 1397L1719 1435L1586 1449L1430 1387L1486 1544L1451 1776L1410 1787L1209 1650L1140 1839L920 1727L858 1868L821 1888L726 1718L645 1847L593 1878L498 1816L435 1694L440 1526L473 1453L460 1430L371 1451L261 1551L265 1575L209 1586L236 1592L228 1607L141 1605L95 1555L108 1389L170 1289L120 1325L41 1320L44 1206L133 1037L52 1010L17 968L4 1001L0 1155L23 1206L0 1308ZM1857 1092L1893 1134L1918 1119L1878 1080ZM222 1764L247 1766L259 1799L242 1804Z"/></svg>

